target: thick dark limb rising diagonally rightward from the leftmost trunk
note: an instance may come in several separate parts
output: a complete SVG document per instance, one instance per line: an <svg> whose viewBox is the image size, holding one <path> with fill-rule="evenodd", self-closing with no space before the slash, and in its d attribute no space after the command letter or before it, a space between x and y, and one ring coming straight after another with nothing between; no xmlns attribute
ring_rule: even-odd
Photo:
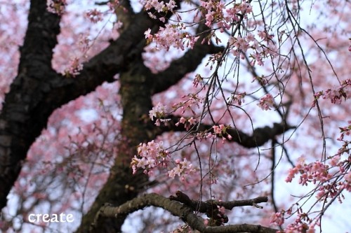
<svg viewBox="0 0 351 233"><path fill-rule="evenodd" d="M48 106L58 108L72 99L88 94L104 82L114 82L117 73L133 69L145 48L144 32L152 28L159 29L164 23L152 20L145 10L133 15L128 14L131 24L123 29L123 33L116 41L102 50L98 55L84 64L76 78L55 78L51 80L54 87L46 96ZM149 72L151 73L151 72Z"/></svg>

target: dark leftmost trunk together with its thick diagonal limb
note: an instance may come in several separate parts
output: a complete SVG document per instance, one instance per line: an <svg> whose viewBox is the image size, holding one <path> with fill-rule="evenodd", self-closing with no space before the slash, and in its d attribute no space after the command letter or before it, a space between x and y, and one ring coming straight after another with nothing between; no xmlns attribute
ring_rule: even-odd
<svg viewBox="0 0 351 233"><path fill-rule="evenodd" d="M60 32L58 15L46 11L46 1L32 0L25 43L20 48L18 77L6 94L0 115L0 208L6 205L29 146L46 127L51 113L68 101L95 90L114 75L133 66L145 46L144 31L154 27L141 12L117 41L84 64L81 75L68 79L51 68L53 48Z"/></svg>

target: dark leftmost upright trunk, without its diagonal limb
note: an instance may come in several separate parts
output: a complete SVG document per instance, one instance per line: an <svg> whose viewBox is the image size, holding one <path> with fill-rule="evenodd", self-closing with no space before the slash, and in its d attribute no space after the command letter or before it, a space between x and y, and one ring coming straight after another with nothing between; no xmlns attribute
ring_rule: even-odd
<svg viewBox="0 0 351 233"><path fill-rule="evenodd" d="M37 115L39 102L55 76L53 48L60 33L60 17L46 11L46 1L32 0L25 41L20 48L18 76L6 94L0 115L0 209L20 173L27 150L46 125ZM39 111L39 112L38 112Z"/></svg>

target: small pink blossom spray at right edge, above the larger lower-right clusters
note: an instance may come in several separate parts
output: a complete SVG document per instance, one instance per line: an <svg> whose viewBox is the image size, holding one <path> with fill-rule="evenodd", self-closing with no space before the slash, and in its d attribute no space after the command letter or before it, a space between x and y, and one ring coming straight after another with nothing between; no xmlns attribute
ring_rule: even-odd
<svg viewBox="0 0 351 233"><path fill-rule="evenodd" d="M333 104L341 104L342 99L351 99L351 79L344 80L343 83L336 88L329 88L325 92L320 91L314 94L316 99L330 99Z"/></svg>

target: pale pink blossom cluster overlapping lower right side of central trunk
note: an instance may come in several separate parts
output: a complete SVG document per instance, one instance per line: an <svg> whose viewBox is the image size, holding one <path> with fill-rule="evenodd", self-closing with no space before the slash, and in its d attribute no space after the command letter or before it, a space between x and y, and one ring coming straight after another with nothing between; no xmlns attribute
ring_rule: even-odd
<svg viewBox="0 0 351 233"><path fill-rule="evenodd" d="M138 155L134 155L131 162L133 174L138 168L142 168L145 174L151 176L154 167L167 167L170 160L169 152L162 145L163 141L156 143L154 140L148 143L140 143Z"/></svg>

